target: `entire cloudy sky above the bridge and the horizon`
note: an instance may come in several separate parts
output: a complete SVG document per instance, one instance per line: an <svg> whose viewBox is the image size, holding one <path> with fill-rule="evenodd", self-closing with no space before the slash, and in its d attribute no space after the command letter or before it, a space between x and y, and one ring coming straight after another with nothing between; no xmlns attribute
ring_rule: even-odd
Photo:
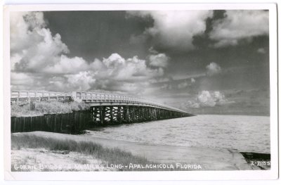
<svg viewBox="0 0 281 185"><path fill-rule="evenodd" d="M10 21L11 89L269 110L268 11L11 12Z"/></svg>

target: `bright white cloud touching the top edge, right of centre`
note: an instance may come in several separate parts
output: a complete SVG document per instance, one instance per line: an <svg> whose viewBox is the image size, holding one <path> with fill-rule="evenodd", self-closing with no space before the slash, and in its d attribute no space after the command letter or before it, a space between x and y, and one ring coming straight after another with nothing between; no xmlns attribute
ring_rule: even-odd
<svg viewBox="0 0 281 185"><path fill-rule="evenodd" d="M134 36L136 41L147 35L153 42L164 48L181 51L194 49L192 37L206 30L205 20L212 17L213 11L127 11L129 16L152 18L154 24L142 36Z"/></svg>

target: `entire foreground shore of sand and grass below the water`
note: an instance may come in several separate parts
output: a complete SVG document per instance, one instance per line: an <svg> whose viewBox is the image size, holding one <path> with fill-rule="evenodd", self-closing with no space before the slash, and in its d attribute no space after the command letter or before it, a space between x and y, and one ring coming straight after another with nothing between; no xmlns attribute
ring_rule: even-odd
<svg viewBox="0 0 281 185"><path fill-rule="evenodd" d="M270 168L268 163L264 164L264 162L270 163L270 155L240 153L225 148L150 145L51 132L14 133L11 144L13 171L268 170ZM47 158L49 160L46 160ZM263 163L258 165L260 161ZM30 164L63 167L55 169L47 167L43 170L15 169L19 165ZM95 167L90 169L89 165Z"/></svg>

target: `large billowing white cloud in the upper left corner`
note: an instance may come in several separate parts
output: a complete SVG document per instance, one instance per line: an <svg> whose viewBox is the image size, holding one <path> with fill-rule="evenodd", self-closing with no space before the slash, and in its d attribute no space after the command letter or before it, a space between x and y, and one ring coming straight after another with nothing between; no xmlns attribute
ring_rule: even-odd
<svg viewBox="0 0 281 185"><path fill-rule="evenodd" d="M41 12L11 13L11 70L40 72L68 53L60 34L52 36Z"/></svg>

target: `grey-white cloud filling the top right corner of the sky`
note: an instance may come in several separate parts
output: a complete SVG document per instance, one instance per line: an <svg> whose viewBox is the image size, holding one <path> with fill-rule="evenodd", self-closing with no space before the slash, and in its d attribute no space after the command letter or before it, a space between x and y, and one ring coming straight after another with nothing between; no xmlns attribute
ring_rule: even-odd
<svg viewBox="0 0 281 185"><path fill-rule="evenodd" d="M214 47L234 46L240 39L268 35L268 11L228 10L226 18L216 20L209 37L216 41Z"/></svg>

